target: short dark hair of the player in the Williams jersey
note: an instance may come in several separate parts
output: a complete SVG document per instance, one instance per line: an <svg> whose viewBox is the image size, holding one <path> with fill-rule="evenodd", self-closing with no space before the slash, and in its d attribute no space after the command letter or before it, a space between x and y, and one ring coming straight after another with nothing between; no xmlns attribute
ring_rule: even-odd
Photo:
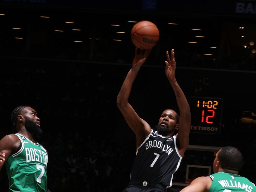
<svg viewBox="0 0 256 192"><path fill-rule="evenodd" d="M239 171L243 165L243 156L241 152L231 146L221 148L218 159L222 169Z"/></svg>

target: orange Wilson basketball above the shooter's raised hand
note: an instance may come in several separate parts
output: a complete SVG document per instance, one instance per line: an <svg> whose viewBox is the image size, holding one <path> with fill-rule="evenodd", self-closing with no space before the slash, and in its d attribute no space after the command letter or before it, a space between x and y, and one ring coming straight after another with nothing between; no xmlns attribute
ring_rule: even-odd
<svg viewBox="0 0 256 192"><path fill-rule="evenodd" d="M151 49L159 40L159 30L150 21L139 21L132 27L132 43L139 49Z"/></svg>

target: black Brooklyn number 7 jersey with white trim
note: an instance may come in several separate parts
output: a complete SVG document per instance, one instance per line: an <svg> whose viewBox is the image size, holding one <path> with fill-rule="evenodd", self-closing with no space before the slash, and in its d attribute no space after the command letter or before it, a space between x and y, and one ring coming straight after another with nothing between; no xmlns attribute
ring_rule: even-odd
<svg viewBox="0 0 256 192"><path fill-rule="evenodd" d="M171 187L173 173L180 166L176 136L164 137L151 130L144 142L137 148L132 165L131 181L147 181Z"/></svg>

